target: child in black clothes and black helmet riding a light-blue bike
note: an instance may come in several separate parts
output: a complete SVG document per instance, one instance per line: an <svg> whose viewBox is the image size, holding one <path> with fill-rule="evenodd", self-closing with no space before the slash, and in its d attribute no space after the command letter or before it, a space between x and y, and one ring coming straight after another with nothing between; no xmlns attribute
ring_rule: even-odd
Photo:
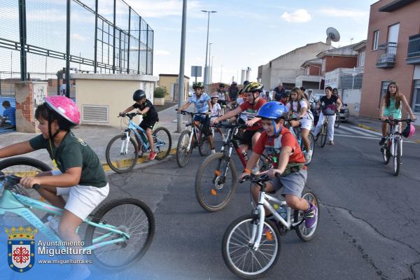
<svg viewBox="0 0 420 280"><path fill-rule="evenodd" d="M139 109L137 110L137 113L143 115L143 120L141 120L139 127L146 131L147 140L151 146L151 153L149 154L148 160L154 160L156 158L156 153L152 132L153 127L155 127L155 124L159 121L158 112L152 102L149 99L146 99L144 90L136 90L133 94L133 100L136 103L121 112L120 116L124 116L125 113L133 111L134 109ZM139 151L141 151L140 144Z"/></svg>

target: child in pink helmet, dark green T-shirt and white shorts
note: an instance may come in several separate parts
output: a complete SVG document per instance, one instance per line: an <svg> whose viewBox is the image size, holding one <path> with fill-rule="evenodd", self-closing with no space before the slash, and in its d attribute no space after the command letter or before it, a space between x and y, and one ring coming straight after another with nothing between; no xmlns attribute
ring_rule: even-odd
<svg viewBox="0 0 420 280"><path fill-rule="evenodd" d="M40 135L0 149L0 158L22 155L41 148L50 154L59 170L25 176L25 188L40 185L38 193L55 207L64 209L58 234L63 241L80 241L76 229L108 195L109 184L98 156L82 139L71 132L78 125L80 113L76 104L64 96L45 97L35 118ZM65 201L62 195L68 195ZM75 258L81 258L76 256ZM74 266L71 277L85 279L90 274L85 266ZM72 278L71 278L72 279Z"/></svg>

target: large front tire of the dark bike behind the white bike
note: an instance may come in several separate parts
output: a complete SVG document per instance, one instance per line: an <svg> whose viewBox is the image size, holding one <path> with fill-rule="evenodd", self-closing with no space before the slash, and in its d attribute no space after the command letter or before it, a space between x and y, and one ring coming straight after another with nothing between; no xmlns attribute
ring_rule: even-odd
<svg viewBox="0 0 420 280"><path fill-rule="evenodd" d="M230 171L232 184L230 189L228 189L228 193L226 195L221 195L226 189L226 186L225 183L223 183L223 185L218 183L217 180L219 180L220 177L214 174L214 168L211 167L212 162L216 164L218 168L225 169L225 154L215 153L213 155L209 155L197 170L197 174L195 176L195 197L197 197L197 202L204 210L216 212L224 209L229 204L230 200L232 200L236 188L237 174L233 160L230 158L228 172ZM211 176L204 177L204 171L207 166L210 166L211 168ZM218 170L218 172L220 172L220 170ZM214 176L216 176L216 178L214 178ZM202 181L203 178L204 181ZM208 189L205 186L210 186L210 188ZM210 199L206 200L203 192L209 193ZM221 197L221 200L219 200L219 197ZM211 198L214 198L214 200L211 200Z"/></svg>

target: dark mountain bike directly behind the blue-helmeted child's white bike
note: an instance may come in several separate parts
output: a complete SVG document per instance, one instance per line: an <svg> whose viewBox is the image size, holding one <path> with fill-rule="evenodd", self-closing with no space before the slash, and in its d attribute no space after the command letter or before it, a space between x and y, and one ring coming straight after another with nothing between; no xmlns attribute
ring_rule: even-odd
<svg viewBox="0 0 420 280"><path fill-rule="evenodd" d="M230 125L218 124L217 127L227 129L221 153L209 155L195 175L195 197L200 206L215 212L225 208L235 193L237 172L232 160L232 150L235 149L242 166L246 167L248 155L239 148L239 131L246 125L232 123ZM258 162L260 173L267 173L272 167L271 158L261 155Z"/></svg>

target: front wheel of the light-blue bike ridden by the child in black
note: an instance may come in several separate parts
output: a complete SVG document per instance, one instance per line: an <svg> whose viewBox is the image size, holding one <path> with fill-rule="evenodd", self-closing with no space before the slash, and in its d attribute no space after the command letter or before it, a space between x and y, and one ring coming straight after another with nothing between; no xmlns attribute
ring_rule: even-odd
<svg viewBox="0 0 420 280"><path fill-rule="evenodd" d="M137 151L137 143L130 137L130 141L127 144L127 150L125 150L125 134L117 135L109 141L106 146L105 158L109 167L117 173L126 173L134 168L137 163L139 154Z"/></svg>

